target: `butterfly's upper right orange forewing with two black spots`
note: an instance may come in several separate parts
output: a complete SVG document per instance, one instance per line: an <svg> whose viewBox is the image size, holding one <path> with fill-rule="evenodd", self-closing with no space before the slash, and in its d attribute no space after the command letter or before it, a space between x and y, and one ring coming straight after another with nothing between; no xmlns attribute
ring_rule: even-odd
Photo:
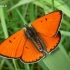
<svg viewBox="0 0 70 70"><path fill-rule="evenodd" d="M39 33L52 37L57 33L62 19L62 11L51 12L32 23L32 26Z"/></svg>

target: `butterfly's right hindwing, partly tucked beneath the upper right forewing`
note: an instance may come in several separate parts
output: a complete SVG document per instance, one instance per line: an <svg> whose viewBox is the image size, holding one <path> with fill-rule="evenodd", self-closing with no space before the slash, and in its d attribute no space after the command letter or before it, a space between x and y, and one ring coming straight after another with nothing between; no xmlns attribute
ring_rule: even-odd
<svg viewBox="0 0 70 70"><path fill-rule="evenodd" d="M48 53L51 52L52 50L54 50L57 47L57 45L59 44L60 39L61 39L60 32L58 32L57 35L54 36L54 37L47 37L47 36L42 35L42 34L39 34L39 36L44 41L44 43L46 45L45 51L48 52Z"/></svg>

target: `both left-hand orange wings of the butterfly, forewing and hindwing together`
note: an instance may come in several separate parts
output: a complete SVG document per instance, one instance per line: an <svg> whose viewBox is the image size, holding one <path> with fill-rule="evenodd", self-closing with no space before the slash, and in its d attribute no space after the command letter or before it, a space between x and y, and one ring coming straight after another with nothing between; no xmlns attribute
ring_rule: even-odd
<svg viewBox="0 0 70 70"><path fill-rule="evenodd" d="M36 62L44 56L26 38L24 30L18 31L0 45L0 55L10 58L21 58L25 63Z"/></svg>

